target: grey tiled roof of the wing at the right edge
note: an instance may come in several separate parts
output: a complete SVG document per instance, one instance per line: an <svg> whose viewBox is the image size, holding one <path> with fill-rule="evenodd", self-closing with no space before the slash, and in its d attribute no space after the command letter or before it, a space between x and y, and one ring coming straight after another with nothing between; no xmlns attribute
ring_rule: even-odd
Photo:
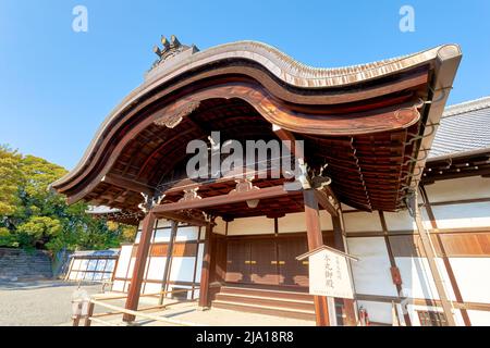
<svg viewBox="0 0 490 348"><path fill-rule="evenodd" d="M490 97L445 109L429 159L490 150Z"/></svg>

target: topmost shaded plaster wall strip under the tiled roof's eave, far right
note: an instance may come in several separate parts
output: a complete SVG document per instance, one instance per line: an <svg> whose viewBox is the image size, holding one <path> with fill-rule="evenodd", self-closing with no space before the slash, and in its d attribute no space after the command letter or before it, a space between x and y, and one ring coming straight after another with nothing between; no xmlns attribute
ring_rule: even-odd
<svg viewBox="0 0 490 348"><path fill-rule="evenodd" d="M431 203L490 198L490 178L473 176L436 182L432 185L427 185L426 191Z"/></svg>

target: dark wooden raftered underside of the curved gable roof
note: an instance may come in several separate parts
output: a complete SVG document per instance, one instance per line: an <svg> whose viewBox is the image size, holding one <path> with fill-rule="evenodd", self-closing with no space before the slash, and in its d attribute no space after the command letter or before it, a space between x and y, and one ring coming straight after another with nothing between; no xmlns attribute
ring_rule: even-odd
<svg viewBox="0 0 490 348"><path fill-rule="evenodd" d="M162 128L151 124L138 134L121 152L118 160L85 198L93 204L137 211L142 203L142 191L167 192L167 200L177 201L183 197L185 185L185 153L188 141L207 140L211 130L221 132L221 141L226 139L278 139L270 123L266 122L250 105L241 100L208 100L198 110L185 117L177 127ZM323 175L332 178L332 189L340 201L357 209L393 211L402 208L409 184L409 175L416 141L409 141L419 132L419 124L407 129L363 136L326 137L294 134L305 141L305 158L310 167L327 165ZM169 149L171 149L169 151ZM203 198L228 194L234 182L203 184ZM258 187L274 185L277 181L254 182ZM279 206L278 206L279 204ZM242 204L243 206L243 204ZM302 197L286 198L273 202L269 208L241 211L241 207L221 207L207 212L230 217L268 215L272 212L295 212L302 209ZM280 208L282 207L282 208ZM243 208L243 207L242 207ZM242 209L243 210L243 209Z"/></svg>

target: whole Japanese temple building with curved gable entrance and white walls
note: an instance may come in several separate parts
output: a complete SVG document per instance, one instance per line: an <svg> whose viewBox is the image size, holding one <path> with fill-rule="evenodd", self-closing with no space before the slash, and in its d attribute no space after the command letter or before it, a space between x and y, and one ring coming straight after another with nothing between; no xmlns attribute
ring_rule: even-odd
<svg viewBox="0 0 490 348"><path fill-rule="evenodd" d="M490 324L490 99L444 112L458 46L340 69L255 41L199 51L172 36L155 52L144 83L52 184L70 203L139 226L113 278L127 309L179 289L201 308L317 325L366 313L389 325ZM271 154L188 175L191 142L207 144L212 162L231 140L281 142L281 165L298 171L270 175ZM357 259L345 274L354 298L309 295L297 257L323 245Z"/></svg>

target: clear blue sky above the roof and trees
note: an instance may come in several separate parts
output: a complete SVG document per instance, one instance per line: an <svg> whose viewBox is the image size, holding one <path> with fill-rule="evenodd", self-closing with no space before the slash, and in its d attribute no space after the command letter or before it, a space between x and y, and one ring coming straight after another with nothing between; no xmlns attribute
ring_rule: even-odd
<svg viewBox="0 0 490 348"><path fill-rule="evenodd" d="M88 33L72 30L77 4ZM404 4L415 33L399 29ZM200 49L265 41L327 67L455 42L464 59L450 103L490 95L488 0L0 0L0 144L72 169L172 34Z"/></svg>

